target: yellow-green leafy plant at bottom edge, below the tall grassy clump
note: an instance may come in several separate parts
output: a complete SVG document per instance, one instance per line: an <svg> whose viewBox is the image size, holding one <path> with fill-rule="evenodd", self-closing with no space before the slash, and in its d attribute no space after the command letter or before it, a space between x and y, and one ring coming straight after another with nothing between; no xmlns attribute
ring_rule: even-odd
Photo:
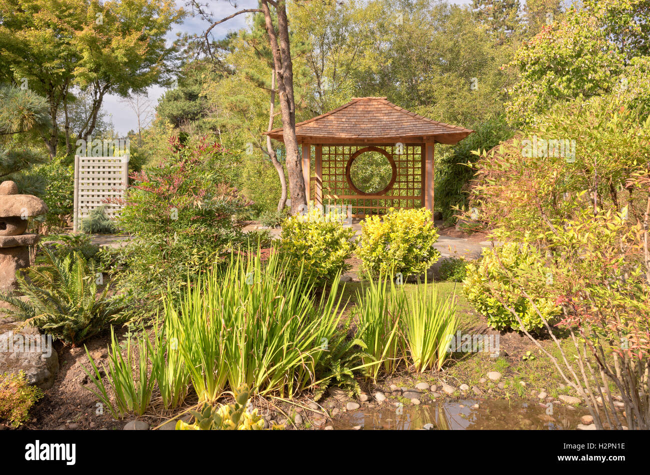
<svg viewBox="0 0 650 475"><path fill-rule="evenodd" d="M176 422L176 430L262 430L264 420L257 414L257 409L249 412L247 407L250 392L243 385L234 391L234 404L222 404L218 409L203 403L201 411L190 411L194 422L187 424L183 420ZM274 426L274 429L281 429Z"/></svg>

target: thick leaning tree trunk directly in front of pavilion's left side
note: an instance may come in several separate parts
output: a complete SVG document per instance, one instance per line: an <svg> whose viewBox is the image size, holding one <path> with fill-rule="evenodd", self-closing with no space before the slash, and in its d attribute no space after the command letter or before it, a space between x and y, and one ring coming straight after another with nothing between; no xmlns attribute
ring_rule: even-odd
<svg viewBox="0 0 650 475"><path fill-rule="evenodd" d="M273 63L278 74L278 92L280 110L282 113L282 128L285 148L287 150L287 174L289 175L289 188L291 189L291 213L296 214L307 204L305 182L302 176L302 162L298 152L296 139L296 109L293 96L293 65L291 50L289 48L289 25L287 10L284 0L278 0L276 12L278 14L278 33L273 25L273 19L268 2L261 0L264 13L266 33L270 40L273 53ZM278 44L279 36L279 44Z"/></svg>

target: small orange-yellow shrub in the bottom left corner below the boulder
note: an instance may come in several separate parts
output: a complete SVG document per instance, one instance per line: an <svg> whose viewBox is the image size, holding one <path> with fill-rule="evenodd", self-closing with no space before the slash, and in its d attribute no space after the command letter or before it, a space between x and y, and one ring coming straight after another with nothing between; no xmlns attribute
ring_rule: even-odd
<svg viewBox="0 0 650 475"><path fill-rule="evenodd" d="M29 409L43 397L43 391L27 384L25 372L0 374L0 420L14 428L27 422Z"/></svg>

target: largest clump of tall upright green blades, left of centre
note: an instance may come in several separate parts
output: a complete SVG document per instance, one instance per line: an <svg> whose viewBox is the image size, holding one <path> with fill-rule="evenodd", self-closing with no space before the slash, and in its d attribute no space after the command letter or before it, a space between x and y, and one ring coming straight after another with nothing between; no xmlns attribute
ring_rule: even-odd
<svg viewBox="0 0 650 475"><path fill-rule="evenodd" d="M249 253L201 275L178 308L171 295L165 300L165 324L199 400L213 402L226 385L290 398L327 385L332 375L319 375L341 318L339 281L318 301L302 274L287 279L288 271L278 253L264 266L259 251Z"/></svg>

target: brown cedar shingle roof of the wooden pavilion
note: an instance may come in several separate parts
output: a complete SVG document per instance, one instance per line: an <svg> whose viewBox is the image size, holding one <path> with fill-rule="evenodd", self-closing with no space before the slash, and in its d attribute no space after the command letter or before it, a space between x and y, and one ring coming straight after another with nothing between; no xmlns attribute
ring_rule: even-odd
<svg viewBox="0 0 650 475"><path fill-rule="evenodd" d="M385 97L355 97L346 105L296 124L298 142L322 144L400 140L456 144L472 132L409 112ZM266 134L283 140L282 129L273 129Z"/></svg>

